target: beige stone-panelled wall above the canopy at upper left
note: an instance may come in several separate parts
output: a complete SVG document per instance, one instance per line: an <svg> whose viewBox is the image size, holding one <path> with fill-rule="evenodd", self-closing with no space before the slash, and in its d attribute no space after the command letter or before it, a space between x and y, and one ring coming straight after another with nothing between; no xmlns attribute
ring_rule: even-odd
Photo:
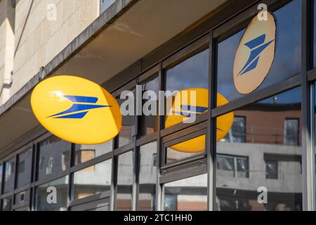
<svg viewBox="0 0 316 225"><path fill-rule="evenodd" d="M56 20L53 15L55 4ZM99 0L23 0L15 7L11 96L77 37L100 13Z"/></svg>

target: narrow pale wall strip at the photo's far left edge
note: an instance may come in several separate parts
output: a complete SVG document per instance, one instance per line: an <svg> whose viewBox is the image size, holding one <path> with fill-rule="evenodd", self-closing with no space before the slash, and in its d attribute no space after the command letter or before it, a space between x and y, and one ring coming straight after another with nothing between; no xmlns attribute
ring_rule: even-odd
<svg viewBox="0 0 316 225"><path fill-rule="evenodd" d="M14 8L11 0L0 0L0 105L9 97L14 53Z"/></svg>

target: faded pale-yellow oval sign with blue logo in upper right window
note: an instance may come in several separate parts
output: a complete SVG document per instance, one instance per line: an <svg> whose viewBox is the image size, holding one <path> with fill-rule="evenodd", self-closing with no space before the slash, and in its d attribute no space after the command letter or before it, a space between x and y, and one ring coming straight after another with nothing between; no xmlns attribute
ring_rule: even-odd
<svg viewBox="0 0 316 225"><path fill-rule="evenodd" d="M251 20L239 43L234 63L234 83L241 94L249 94L260 86L268 75L275 58L275 18Z"/></svg>

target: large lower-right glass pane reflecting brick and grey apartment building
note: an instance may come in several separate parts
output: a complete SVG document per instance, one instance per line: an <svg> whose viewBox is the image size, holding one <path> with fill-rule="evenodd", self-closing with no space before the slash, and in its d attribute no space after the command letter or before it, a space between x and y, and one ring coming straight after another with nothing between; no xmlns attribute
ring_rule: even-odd
<svg viewBox="0 0 316 225"><path fill-rule="evenodd" d="M244 143L217 142L217 209L302 210L301 136L297 146L287 145L284 139L285 119L301 120L301 88L253 103L233 114L245 118L246 137ZM294 133L299 134L301 127L296 129ZM223 159L222 155L230 158Z"/></svg>

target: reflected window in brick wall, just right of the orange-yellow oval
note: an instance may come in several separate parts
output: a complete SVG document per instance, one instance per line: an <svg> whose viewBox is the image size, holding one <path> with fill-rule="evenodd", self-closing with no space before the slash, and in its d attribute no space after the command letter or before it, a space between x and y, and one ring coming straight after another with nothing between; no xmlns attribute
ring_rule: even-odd
<svg viewBox="0 0 316 225"><path fill-rule="evenodd" d="M226 136L220 141L246 142L246 118L245 117L234 117L234 123L232 124L232 129L226 134Z"/></svg>

